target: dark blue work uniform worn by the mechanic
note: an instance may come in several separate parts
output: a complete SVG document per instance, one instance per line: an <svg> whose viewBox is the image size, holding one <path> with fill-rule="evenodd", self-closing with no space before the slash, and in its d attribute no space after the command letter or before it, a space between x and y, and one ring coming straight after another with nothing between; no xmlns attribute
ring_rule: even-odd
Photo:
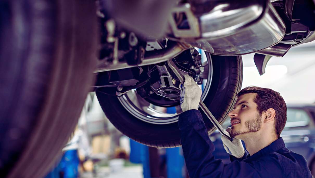
<svg viewBox="0 0 315 178"><path fill-rule="evenodd" d="M224 164L212 155L215 146L198 110L180 114L178 125L190 178L312 177L305 158L285 147L281 137L251 156L245 153L237 159L230 155L231 163Z"/></svg>

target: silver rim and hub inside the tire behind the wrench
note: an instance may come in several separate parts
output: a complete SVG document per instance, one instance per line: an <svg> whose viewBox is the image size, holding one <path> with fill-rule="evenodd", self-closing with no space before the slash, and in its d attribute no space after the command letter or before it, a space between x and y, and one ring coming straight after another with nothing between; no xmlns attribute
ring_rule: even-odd
<svg viewBox="0 0 315 178"><path fill-rule="evenodd" d="M193 58L189 59L189 56ZM211 58L206 56L207 61L202 63L203 70L201 70L201 67L198 67L198 64L201 63L198 58L198 54L195 55L186 50L186 53L179 55L175 60L181 66L179 68L183 74L189 73L192 76L195 75L195 78L196 76L203 78L200 80L203 82L201 83L203 84L201 86L203 89L201 99L203 100L208 94L212 81L212 62ZM196 70L200 70L200 72ZM196 73L194 73L195 71ZM164 63L150 66L147 73L150 80L145 86L129 90L125 95L118 97L118 100L130 114L147 123L164 125L177 122L178 114L182 113L179 102L176 100L180 97L180 82L177 81L177 77L173 75L172 70L168 70L167 64ZM164 77L166 77L165 80ZM169 107L174 107L175 111L169 113L167 110Z"/></svg>

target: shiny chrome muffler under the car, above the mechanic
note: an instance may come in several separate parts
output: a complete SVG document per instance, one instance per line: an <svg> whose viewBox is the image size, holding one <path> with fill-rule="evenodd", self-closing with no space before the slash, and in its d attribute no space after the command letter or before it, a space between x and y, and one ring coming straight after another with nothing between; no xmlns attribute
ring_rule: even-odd
<svg viewBox="0 0 315 178"><path fill-rule="evenodd" d="M285 34L284 22L267 0L195 0L174 8L169 24L171 40L217 55L260 51Z"/></svg>

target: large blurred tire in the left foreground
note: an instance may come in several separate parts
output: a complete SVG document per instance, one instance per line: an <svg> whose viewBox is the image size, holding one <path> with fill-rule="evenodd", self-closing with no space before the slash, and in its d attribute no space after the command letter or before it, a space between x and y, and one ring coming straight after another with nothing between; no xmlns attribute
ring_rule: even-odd
<svg viewBox="0 0 315 178"><path fill-rule="evenodd" d="M0 2L0 177L44 177L93 84L90 0Z"/></svg>

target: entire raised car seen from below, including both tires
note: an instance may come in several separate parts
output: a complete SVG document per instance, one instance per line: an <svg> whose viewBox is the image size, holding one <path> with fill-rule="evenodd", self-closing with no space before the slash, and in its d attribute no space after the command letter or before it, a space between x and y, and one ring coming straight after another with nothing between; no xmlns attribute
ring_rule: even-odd
<svg viewBox="0 0 315 178"><path fill-rule="evenodd" d="M131 139L178 147L181 82L169 60L222 124L242 87L242 55L255 53L263 75L314 31L313 0L1 1L0 177L43 177L88 92Z"/></svg>

